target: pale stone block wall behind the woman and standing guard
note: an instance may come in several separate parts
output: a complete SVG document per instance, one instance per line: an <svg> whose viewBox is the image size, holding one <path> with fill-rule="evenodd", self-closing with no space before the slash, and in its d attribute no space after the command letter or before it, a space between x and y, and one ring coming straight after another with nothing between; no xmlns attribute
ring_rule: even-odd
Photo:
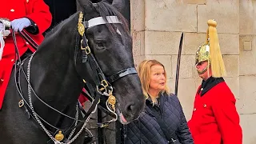
<svg viewBox="0 0 256 144"><path fill-rule="evenodd" d="M207 20L218 22L225 79L237 98L243 143L256 143L256 1L131 0L130 14L135 63L145 58L162 62L173 92L179 39L184 32L178 98L187 119L201 83L194 54L205 41Z"/></svg>

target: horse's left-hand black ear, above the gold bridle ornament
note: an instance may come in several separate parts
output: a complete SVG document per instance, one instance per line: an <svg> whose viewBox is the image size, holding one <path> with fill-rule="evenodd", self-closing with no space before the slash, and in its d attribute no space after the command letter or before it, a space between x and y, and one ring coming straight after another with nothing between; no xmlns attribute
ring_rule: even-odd
<svg viewBox="0 0 256 144"><path fill-rule="evenodd" d="M94 5L90 0L76 0L77 1L77 11L82 11L90 13L94 11Z"/></svg>

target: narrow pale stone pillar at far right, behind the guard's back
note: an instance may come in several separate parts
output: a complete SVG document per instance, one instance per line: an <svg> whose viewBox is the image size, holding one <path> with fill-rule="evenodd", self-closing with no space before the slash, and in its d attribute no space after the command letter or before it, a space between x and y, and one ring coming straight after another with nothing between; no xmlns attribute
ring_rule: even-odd
<svg viewBox="0 0 256 144"><path fill-rule="evenodd" d="M239 2L239 101L243 143L256 143L256 1Z"/></svg>

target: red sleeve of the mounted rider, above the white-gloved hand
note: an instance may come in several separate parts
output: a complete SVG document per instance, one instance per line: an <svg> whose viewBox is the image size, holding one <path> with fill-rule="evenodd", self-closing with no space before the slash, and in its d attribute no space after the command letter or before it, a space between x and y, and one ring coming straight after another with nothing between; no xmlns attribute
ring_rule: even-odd
<svg viewBox="0 0 256 144"><path fill-rule="evenodd" d="M45 32L52 21L49 6L43 0L30 0L28 2L26 18L30 18L38 26L38 34Z"/></svg>

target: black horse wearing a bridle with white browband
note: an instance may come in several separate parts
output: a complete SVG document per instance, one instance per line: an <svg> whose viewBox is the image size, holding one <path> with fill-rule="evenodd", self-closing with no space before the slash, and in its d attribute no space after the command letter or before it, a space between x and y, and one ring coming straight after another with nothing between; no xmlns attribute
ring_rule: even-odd
<svg viewBox="0 0 256 144"><path fill-rule="evenodd" d="M98 87L98 94L111 95L113 89L120 122L138 118L144 97L134 74L130 33L118 12L122 3L77 0L79 11L46 34L22 65L14 66L0 112L1 144L60 143L56 139L63 135L67 143L82 144L85 120L78 111L78 96L84 80Z"/></svg>

